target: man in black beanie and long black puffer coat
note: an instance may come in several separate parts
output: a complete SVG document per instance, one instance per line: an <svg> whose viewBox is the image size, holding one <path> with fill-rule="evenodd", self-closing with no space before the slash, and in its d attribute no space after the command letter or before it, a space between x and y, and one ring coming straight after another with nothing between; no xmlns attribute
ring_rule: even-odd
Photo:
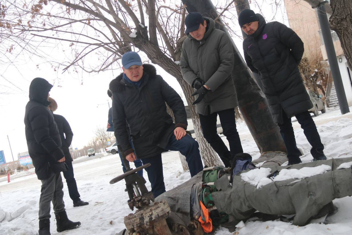
<svg viewBox="0 0 352 235"><path fill-rule="evenodd" d="M308 112L313 107L304 87L298 64L303 56L303 42L297 34L277 21L266 23L260 14L250 9L238 17L247 34L243 41L245 61L253 73L259 74L261 89L269 103L275 122L287 149L289 164L301 162L296 146L291 117L295 116L312 146L314 160L325 160L316 125Z"/></svg>

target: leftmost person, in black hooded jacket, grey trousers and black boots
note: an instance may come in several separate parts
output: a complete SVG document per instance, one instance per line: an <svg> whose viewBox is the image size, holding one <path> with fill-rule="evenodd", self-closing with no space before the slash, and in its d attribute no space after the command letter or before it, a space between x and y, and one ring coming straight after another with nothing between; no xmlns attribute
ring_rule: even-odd
<svg viewBox="0 0 352 235"><path fill-rule="evenodd" d="M29 87L24 124L28 152L35 172L42 181L39 199L39 235L50 235L50 202L54 208L57 231L74 229L81 225L68 219L63 201L61 172L67 170L61 138L48 109L52 85L43 78L35 78Z"/></svg>

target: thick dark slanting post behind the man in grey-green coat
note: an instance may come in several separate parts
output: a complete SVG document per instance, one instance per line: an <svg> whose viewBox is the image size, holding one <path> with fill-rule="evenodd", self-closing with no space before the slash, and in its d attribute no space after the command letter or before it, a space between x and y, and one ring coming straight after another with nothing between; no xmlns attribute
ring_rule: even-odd
<svg viewBox="0 0 352 235"><path fill-rule="evenodd" d="M203 16L215 19L218 12L210 0L182 0L188 12L199 12ZM218 21L221 20L218 19ZM224 24L216 24L230 37ZM231 37L230 37L231 38ZM235 63L232 70L233 80L236 87L239 110L249 128L260 153L266 151L286 152L285 144L279 132L278 126L274 123L269 111L268 103L260 90L253 76L246 66L236 45L233 43Z"/></svg>

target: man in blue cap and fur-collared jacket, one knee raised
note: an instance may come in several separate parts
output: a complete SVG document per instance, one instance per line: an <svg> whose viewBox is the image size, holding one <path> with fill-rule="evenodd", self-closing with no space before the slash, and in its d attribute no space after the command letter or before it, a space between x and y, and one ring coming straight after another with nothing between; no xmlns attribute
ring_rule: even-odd
<svg viewBox="0 0 352 235"><path fill-rule="evenodd" d="M112 117L115 137L130 162L142 159L154 197L165 192L161 153L180 151L186 156L191 176L202 171L198 143L186 135L187 115L180 95L172 89L150 64L142 64L136 52L122 56L123 73L112 80ZM166 111L172 109L175 123ZM132 137L132 148L126 130Z"/></svg>

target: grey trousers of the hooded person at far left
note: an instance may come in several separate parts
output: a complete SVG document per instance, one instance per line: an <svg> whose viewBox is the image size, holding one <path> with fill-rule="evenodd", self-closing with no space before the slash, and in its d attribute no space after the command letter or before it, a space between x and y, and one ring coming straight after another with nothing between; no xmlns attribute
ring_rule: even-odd
<svg viewBox="0 0 352 235"><path fill-rule="evenodd" d="M52 202L55 215L65 211L63 200L64 192L62 191L63 183L61 173L49 171L49 177L41 180L42 188L39 198L39 220L50 219L50 203Z"/></svg>

